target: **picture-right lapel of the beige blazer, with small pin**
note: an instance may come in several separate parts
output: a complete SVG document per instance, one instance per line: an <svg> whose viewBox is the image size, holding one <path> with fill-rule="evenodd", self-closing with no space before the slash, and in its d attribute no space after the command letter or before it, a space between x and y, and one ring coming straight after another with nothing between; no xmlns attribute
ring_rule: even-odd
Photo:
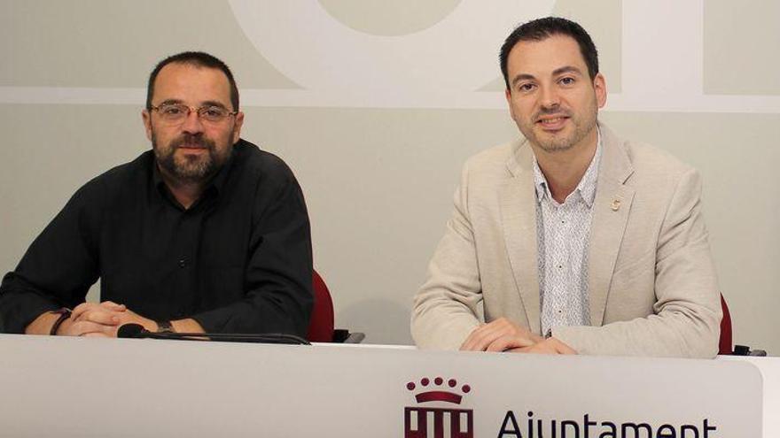
<svg viewBox="0 0 780 438"><path fill-rule="evenodd" d="M597 327L604 323L612 271L634 200L634 188L625 185L628 177L634 173L628 155L612 131L603 125L599 127L604 155L590 222L588 261L590 325Z"/></svg>

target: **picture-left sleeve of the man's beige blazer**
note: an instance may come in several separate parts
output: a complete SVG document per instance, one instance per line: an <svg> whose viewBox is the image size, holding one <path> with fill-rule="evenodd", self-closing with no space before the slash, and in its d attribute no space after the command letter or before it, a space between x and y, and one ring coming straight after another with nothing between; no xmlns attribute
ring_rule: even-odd
<svg viewBox="0 0 780 438"><path fill-rule="evenodd" d="M455 193L455 209L417 292L411 334L424 349L457 350L480 326L480 269L468 210L468 165Z"/></svg>

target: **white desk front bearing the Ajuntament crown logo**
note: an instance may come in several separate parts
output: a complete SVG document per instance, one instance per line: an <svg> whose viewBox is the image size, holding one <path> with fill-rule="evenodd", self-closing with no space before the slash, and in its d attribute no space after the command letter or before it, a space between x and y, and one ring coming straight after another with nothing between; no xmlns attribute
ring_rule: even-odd
<svg viewBox="0 0 780 438"><path fill-rule="evenodd" d="M13 437L433 438L436 427L449 431L458 422L477 432L463 436L498 436L510 415L520 429L530 419L672 427L708 418L720 427L713 438L761 436L733 434L745 424L780 436L777 357L547 357L0 334L0 388L0 436ZM409 425L428 434L409 434Z"/></svg>

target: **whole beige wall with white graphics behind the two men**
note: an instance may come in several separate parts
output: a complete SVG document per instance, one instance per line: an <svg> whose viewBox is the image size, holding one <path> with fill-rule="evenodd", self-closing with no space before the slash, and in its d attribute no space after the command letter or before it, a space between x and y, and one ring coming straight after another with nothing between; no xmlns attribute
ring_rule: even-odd
<svg viewBox="0 0 780 438"><path fill-rule="evenodd" d="M152 66L207 50L237 76L245 138L300 180L337 325L408 343L460 165L517 136L498 47L550 13L597 42L601 119L704 175L735 340L780 354L771 0L0 1L0 271L83 182L149 148Z"/></svg>

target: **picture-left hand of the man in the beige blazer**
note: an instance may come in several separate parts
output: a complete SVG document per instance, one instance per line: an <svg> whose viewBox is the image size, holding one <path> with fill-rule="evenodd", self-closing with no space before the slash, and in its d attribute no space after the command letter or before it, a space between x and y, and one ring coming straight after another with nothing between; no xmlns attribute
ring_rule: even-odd
<svg viewBox="0 0 780 438"><path fill-rule="evenodd" d="M544 341L542 336L533 334L526 327L521 327L502 317L475 328L461 345L460 350L504 351L531 347L542 341Z"/></svg>

